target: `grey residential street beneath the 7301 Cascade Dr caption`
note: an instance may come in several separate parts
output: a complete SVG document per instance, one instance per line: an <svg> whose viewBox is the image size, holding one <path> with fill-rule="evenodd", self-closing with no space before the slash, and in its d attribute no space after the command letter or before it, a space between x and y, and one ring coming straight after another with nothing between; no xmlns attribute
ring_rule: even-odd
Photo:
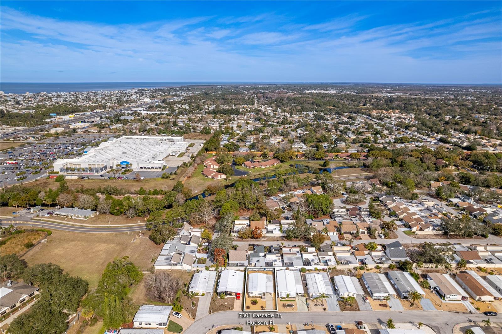
<svg viewBox="0 0 502 334"><path fill-rule="evenodd" d="M209 314L203 318L197 319L185 330L185 334L203 334L213 327L243 324L246 330L246 321L270 320L270 318L239 318L240 313L263 314L268 312L235 312L224 311ZM271 312L275 314L274 312ZM481 321L486 319L482 313L457 313L445 311L358 311L358 312L281 312L282 317L273 318L275 324L279 323L304 323L314 322L318 324L340 323L340 321L355 322L363 321L366 323L385 323L392 317L395 323L410 323L422 321L433 328L437 333L451 333L453 326L457 323L466 322L468 319ZM502 315L490 317L491 321L502 321ZM248 328L248 327L247 327ZM248 329L247 329L248 330Z"/></svg>

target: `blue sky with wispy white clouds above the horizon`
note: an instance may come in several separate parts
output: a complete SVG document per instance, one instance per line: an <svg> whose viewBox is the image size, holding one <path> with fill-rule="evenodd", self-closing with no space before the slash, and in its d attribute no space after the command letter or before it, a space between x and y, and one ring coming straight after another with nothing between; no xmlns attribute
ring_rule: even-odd
<svg viewBox="0 0 502 334"><path fill-rule="evenodd" d="M500 2L2 1L2 82L502 83Z"/></svg>

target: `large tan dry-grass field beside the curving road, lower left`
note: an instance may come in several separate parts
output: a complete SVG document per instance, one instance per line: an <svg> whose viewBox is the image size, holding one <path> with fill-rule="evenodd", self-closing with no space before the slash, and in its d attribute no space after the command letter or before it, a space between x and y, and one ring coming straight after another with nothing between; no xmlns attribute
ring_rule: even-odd
<svg viewBox="0 0 502 334"><path fill-rule="evenodd" d="M136 238L136 234L129 233L53 231L46 243L35 246L23 259L29 265L55 263L70 275L86 279L93 288L113 258L127 255L141 270L149 270L161 249L162 245L150 241L148 234Z"/></svg>

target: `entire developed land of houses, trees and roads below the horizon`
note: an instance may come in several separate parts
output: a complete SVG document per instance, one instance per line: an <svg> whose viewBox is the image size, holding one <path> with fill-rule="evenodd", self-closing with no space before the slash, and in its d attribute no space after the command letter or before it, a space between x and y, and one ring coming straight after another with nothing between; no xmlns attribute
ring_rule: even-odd
<svg viewBox="0 0 502 334"><path fill-rule="evenodd" d="M2 92L2 332L497 333L500 92Z"/></svg>

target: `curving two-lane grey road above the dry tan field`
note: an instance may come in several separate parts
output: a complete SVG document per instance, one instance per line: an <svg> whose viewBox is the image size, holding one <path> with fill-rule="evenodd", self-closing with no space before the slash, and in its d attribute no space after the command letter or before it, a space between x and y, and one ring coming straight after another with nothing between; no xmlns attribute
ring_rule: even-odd
<svg viewBox="0 0 502 334"><path fill-rule="evenodd" d="M0 226L5 227L9 225L14 226L31 226L35 228L46 228L50 230L60 230L69 232L82 232L82 233L120 233L120 232L138 232L146 230L146 226L135 227L85 227L85 226L71 226L59 223L30 221L21 217L16 218L15 221L11 219L0 219Z"/></svg>

